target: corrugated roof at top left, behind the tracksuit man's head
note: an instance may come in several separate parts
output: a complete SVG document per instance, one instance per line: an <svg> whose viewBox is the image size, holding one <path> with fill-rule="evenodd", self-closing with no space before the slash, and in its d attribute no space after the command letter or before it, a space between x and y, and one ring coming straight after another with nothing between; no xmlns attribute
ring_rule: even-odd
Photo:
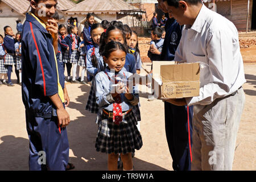
<svg viewBox="0 0 256 182"><path fill-rule="evenodd" d="M28 8L30 7L29 0L1 0L2 2L6 3L8 6L13 8L14 10L18 11L20 14L24 14L27 12ZM69 1L69 0L58 0L57 9L61 11L66 11L71 9L76 4Z"/></svg>

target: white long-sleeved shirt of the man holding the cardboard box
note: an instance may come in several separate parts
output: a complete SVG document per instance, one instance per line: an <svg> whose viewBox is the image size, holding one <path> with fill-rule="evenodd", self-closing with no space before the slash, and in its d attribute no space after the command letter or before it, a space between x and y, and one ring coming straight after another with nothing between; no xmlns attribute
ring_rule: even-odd
<svg viewBox="0 0 256 182"><path fill-rule="evenodd" d="M184 26L174 60L209 65L200 71L200 96L185 98L189 106L209 105L246 82L237 28L204 5L193 25Z"/></svg>

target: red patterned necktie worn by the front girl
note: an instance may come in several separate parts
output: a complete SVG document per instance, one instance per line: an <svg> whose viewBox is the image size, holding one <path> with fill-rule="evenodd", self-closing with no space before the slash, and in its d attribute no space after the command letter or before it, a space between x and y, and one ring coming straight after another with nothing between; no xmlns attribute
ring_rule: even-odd
<svg viewBox="0 0 256 182"><path fill-rule="evenodd" d="M117 80L115 80L115 84L117 84ZM122 122L122 105L121 105L121 95L118 94L114 98L115 102L113 104L113 122L115 125L119 125Z"/></svg>

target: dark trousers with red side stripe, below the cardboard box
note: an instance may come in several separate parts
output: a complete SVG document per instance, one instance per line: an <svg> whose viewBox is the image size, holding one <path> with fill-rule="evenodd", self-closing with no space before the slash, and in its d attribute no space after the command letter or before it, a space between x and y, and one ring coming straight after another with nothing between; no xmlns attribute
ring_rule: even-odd
<svg viewBox="0 0 256 182"><path fill-rule="evenodd" d="M193 106L189 106L187 111L187 106L176 106L169 102L164 102L164 115L166 138L173 160L172 168L175 171L190 171Z"/></svg>

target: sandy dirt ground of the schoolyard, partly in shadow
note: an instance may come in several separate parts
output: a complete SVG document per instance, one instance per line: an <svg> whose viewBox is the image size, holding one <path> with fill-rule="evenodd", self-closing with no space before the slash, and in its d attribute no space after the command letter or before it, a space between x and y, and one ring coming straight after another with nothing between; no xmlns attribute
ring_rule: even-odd
<svg viewBox="0 0 256 182"><path fill-rule="evenodd" d="M143 39L143 38L141 38ZM140 46L147 48L148 39ZM237 136L233 170L256 170L256 47L241 49L245 60L246 104ZM146 51L142 49L142 55ZM146 57L145 57L146 59ZM246 61L247 60L247 61ZM251 60L254 60L254 63ZM147 62L147 61L146 61ZM150 68L150 63L145 63ZM143 73L142 73L143 74ZM13 74L14 82L16 76ZM96 114L85 110L90 85L67 85L71 104L67 108L71 115L68 126L69 162L75 170L106 170L107 155L94 148L97 125ZM25 111L21 97L21 86L0 86L0 170L28 170L28 136ZM168 150L164 130L164 105L160 100L147 101L141 94L141 135L143 147L135 152L135 170L172 170L172 158Z"/></svg>

